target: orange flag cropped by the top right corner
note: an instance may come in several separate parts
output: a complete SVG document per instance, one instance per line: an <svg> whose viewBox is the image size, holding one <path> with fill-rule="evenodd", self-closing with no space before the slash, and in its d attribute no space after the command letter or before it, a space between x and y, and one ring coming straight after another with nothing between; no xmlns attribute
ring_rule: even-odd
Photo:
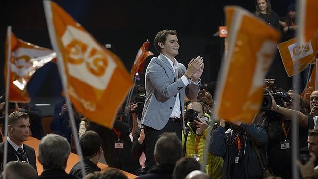
<svg viewBox="0 0 318 179"><path fill-rule="evenodd" d="M297 1L299 9L297 9L297 38L300 44L305 44L317 33L318 18L317 0L299 0Z"/></svg>

